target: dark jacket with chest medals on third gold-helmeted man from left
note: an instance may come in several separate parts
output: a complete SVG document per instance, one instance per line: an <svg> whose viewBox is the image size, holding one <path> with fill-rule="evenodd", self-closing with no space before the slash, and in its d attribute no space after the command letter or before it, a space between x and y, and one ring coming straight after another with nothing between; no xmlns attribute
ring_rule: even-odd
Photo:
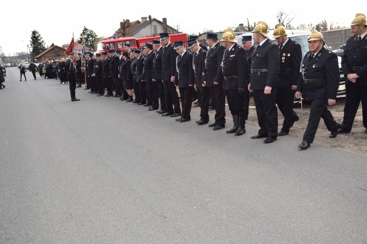
<svg viewBox="0 0 367 244"><path fill-rule="evenodd" d="M280 51L280 66L278 73L278 83L281 88L291 89L292 85L297 85L301 79L299 67L302 59L301 46L288 38L287 43Z"/></svg>

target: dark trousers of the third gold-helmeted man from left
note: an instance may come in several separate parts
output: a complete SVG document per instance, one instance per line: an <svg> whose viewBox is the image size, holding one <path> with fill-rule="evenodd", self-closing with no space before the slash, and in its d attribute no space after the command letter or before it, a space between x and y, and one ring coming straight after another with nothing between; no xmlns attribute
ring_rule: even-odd
<svg viewBox="0 0 367 244"><path fill-rule="evenodd" d="M295 99L296 90L291 88L278 87L276 92L275 102L278 105L280 112L283 114L284 122L281 131L289 132L292 118L297 118L296 112L293 110L293 102Z"/></svg>

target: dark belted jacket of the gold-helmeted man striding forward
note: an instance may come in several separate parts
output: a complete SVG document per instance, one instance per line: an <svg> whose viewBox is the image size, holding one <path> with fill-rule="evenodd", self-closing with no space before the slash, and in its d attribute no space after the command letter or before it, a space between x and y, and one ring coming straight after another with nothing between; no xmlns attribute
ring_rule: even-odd
<svg viewBox="0 0 367 244"><path fill-rule="evenodd" d="M298 82L297 91L304 100L335 99L340 81L338 56L322 47L311 61L310 57L309 51L302 60L301 73L306 80Z"/></svg>

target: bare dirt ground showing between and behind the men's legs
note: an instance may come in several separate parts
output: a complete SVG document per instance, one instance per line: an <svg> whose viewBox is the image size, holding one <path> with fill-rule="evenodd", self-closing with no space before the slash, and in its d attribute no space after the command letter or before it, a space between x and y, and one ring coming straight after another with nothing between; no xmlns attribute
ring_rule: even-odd
<svg viewBox="0 0 367 244"><path fill-rule="evenodd" d="M253 104L253 99L251 97L250 106L253 106ZM328 107L336 122L343 122L344 104L345 98L338 98L335 105ZM193 109L197 109L200 113L199 107ZM299 121L294 123L288 136L298 138L300 143L303 138L303 133L306 130L308 117L310 115L310 105L307 103L303 103L303 118L301 117L301 106L294 108L294 110L299 116ZM209 110L209 115L210 118L214 118L215 111ZM229 123L229 126L231 126L232 121L228 106L226 106L226 119ZM282 124L283 115L278 109L278 131L281 129ZM255 108L250 108L249 119L246 121L246 125L259 128ZM319 143L326 146L343 149L345 151L367 155L367 134L365 133L365 130L366 128L363 126L362 119L362 105L360 104L356 117L354 119L353 129L350 133L339 134L336 138L329 138L330 132L327 130L323 120L321 119L319 128L316 132L314 143Z"/></svg>

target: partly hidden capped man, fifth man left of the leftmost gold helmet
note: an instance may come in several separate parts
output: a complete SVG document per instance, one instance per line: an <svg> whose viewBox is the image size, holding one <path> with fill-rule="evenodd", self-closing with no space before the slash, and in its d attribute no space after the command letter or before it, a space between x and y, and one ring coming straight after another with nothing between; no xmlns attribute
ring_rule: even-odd
<svg viewBox="0 0 367 244"><path fill-rule="evenodd" d="M162 81L162 50L163 47L161 46L161 41L153 39L153 48L156 51L153 61L153 82L156 82L157 89L158 89L158 96L161 102L161 109L156 111L159 114L164 114L167 112L166 108L166 98L164 94L164 85Z"/></svg>

